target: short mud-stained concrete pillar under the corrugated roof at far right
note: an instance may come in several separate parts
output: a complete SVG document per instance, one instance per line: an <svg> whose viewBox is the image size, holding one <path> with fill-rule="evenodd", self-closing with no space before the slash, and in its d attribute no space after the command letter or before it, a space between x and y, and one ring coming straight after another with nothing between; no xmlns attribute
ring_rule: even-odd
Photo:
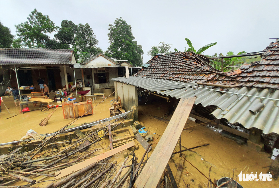
<svg viewBox="0 0 279 188"><path fill-rule="evenodd" d="M259 152L262 151L264 145L263 143L260 142L261 136L262 136L262 130L257 128L251 128L249 139L247 140L247 145Z"/></svg>

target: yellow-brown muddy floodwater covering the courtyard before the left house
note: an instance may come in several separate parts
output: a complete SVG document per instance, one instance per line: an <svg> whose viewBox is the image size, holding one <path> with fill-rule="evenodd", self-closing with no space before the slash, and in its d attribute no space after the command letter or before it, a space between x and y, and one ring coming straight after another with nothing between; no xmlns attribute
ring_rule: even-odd
<svg viewBox="0 0 279 188"><path fill-rule="evenodd" d="M29 104L30 112L24 112L24 114L19 113L20 107L15 107L15 103L13 102L13 97L2 97L4 100L5 105L7 106L11 115L16 115L15 117L11 117L7 109L3 104L1 104L2 113L0 113L0 143L5 143L13 140L19 140L22 136L26 135L26 132L30 129L38 132L38 134L46 134L46 133L53 133L56 132L61 127L64 127L66 124L74 120L74 118L65 119L63 118L63 111L62 108L59 107L56 112L52 115L48 124L46 126L39 126L39 123L42 119L46 118L53 109L46 110L41 112L40 107L34 107L33 104ZM51 98L51 97L50 97ZM110 100L113 100L114 97L107 98L105 104L100 103L93 109L93 115L86 115L74 122L69 128L73 127L74 125L85 123L85 122L93 122L96 120L100 120L103 118L109 117L108 108L111 106ZM79 100L81 100L79 98ZM52 103L51 103L52 104ZM57 104L53 102L53 104ZM93 106L98 104L95 102ZM24 105L26 107L26 105ZM9 118L6 120L6 118Z"/></svg>

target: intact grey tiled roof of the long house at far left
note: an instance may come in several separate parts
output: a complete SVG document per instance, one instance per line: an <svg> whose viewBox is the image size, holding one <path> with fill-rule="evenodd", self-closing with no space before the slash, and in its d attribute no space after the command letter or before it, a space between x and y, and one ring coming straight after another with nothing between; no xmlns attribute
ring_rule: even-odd
<svg viewBox="0 0 279 188"><path fill-rule="evenodd" d="M0 65L72 64L73 49L0 48Z"/></svg>

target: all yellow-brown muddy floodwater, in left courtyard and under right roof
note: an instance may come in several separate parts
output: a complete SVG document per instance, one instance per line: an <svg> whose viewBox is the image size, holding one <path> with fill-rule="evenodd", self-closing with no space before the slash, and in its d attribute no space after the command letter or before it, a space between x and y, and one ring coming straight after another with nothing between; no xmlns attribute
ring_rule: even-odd
<svg viewBox="0 0 279 188"><path fill-rule="evenodd" d="M14 107L12 98L3 98L6 106L9 108L12 115L19 114L19 107ZM100 120L103 118L109 117L108 108L111 106L111 100L114 97L106 100L105 104L101 103L94 108L94 115L87 115L79 120L77 120L72 126L77 126L78 124L84 122L92 122L95 120ZM31 105L30 105L31 106ZM2 108L3 105L2 105ZM139 122L143 122L147 131L156 132L154 139L151 141L153 144L153 149L156 147L161 136L163 135L167 125L168 120L171 119L171 116L167 117L165 120L158 120L155 117L161 117L163 114L168 112L168 106L165 105L165 102L158 104L146 104L138 107L138 117ZM30 109L35 109L31 106ZM52 110L46 112L40 112L40 110L26 112L24 114L19 114L13 118L5 120L9 117L7 110L2 110L0 114L0 142L9 142L13 140L19 140L22 136L26 135L26 132L29 129L32 129L39 134L52 133L57 131L59 128L65 126L73 120L63 119L62 108L59 108L50 118L48 124L44 127L40 127L40 121L45 118ZM197 123L188 121L186 126L193 126ZM187 130L183 130L182 134L182 146L186 148L195 147L202 144L209 143L210 145L192 149L190 151L185 151L186 160L188 160L192 165L199 169L204 175L208 177L209 168L211 168L210 178L220 179L221 177L234 177L242 173L267 173L269 166L272 163L270 159L270 154L265 152L257 152L247 146L247 144L239 145L235 141L230 140L221 136L220 133L214 132L206 126L196 126ZM145 149L141 147L138 141L135 140L135 143L139 145L139 149L135 150L136 156L140 157L143 155ZM94 147L99 148L99 153L109 150L109 140L108 138L102 139ZM182 149L184 149L182 147ZM145 159L149 157L153 149L145 156ZM179 145L175 148L176 151L179 150ZM112 157L112 161L118 161L118 164L124 159L124 153L127 150L117 153ZM130 156L131 159L132 156ZM158 159L160 160L160 159ZM197 188L206 188L208 180L195 169L190 163L184 161L181 178L178 184L178 187L197 187ZM129 160L128 160L129 161ZM130 162L131 163L131 162ZM128 165L130 164L128 163ZM169 160L169 165L173 172L174 177L177 174L177 169L180 163L179 154L175 154ZM128 170L124 169L123 174ZM51 179L51 178L50 178ZM47 180L47 179L46 179ZM239 179L237 178L239 182ZM272 181L257 181L257 182L239 182L244 188L254 187L279 187L278 181L272 179ZM44 187L48 185L49 182L46 182L38 187ZM15 185L20 185L16 183ZM21 184L22 185L22 184ZM26 185L26 184L23 184Z"/></svg>

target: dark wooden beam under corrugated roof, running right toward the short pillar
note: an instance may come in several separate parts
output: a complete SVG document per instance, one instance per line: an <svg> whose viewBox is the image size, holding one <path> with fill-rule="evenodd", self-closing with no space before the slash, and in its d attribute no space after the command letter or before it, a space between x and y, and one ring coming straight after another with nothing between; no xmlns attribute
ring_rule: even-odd
<svg viewBox="0 0 279 188"><path fill-rule="evenodd" d="M202 122L208 122L210 121L210 119L207 119L207 118L203 118L203 117L200 117L200 116L196 116L194 114L190 114L189 115L191 118L195 118L197 120L200 120ZM208 124L212 125L212 126L215 126L215 127L218 127L224 131L227 131L227 132L230 132L232 134L235 134L235 135L238 135L238 136L241 136L243 138L249 138L249 134L248 133L245 133L245 132L242 132L242 131L239 131L239 130L236 130L236 129L233 129L233 128L230 128L228 126L225 126L225 125L222 125L222 124L217 124L216 122L209 122Z"/></svg>

